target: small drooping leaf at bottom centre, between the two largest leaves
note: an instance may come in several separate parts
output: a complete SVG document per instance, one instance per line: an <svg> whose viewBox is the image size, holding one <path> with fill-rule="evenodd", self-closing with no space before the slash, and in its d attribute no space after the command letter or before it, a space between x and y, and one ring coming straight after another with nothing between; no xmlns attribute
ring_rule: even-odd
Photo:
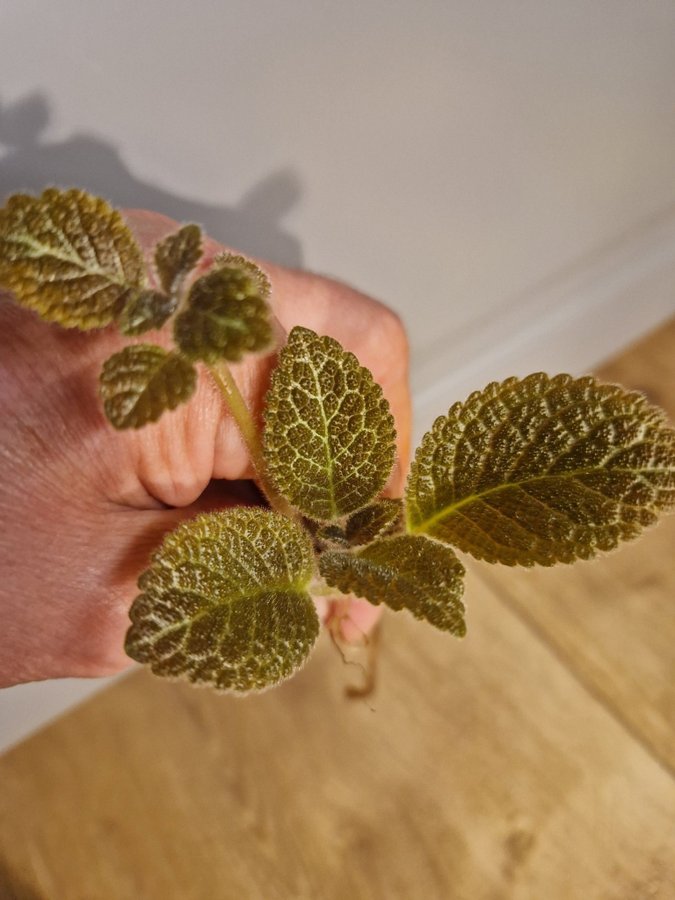
<svg viewBox="0 0 675 900"><path fill-rule="evenodd" d="M325 551L321 575L331 587L370 603L407 609L457 637L466 633L464 567L450 547L422 535L382 538L352 553Z"/></svg>

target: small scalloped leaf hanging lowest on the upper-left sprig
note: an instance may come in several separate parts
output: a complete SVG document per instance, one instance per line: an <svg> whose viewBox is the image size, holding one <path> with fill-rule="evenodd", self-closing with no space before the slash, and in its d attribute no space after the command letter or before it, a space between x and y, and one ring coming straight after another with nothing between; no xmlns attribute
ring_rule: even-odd
<svg viewBox="0 0 675 900"><path fill-rule="evenodd" d="M180 354L133 344L104 363L103 408L115 428L141 428L185 402L196 384L194 366Z"/></svg>

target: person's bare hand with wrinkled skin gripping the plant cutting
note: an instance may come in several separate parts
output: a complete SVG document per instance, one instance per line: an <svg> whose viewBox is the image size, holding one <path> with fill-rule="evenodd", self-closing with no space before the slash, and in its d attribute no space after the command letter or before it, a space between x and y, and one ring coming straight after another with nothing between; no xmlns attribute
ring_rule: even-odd
<svg viewBox="0 0 675 900"><path fill-rule="evenodd" d="M151 256L175 222L127 219ZM223 248L207 242L202 268ZM382 385L396 418L400 496L410 408L407 343L398 318L325 278L263 263L281 328L301 324L352 350ZM149 333L143 340L167 343ZM246 448L205 373L189 404L140 431L115 432L98 398L102 362L126 343L114 329L46 325L0 297L0 686L95 677L131 664L123 650L136 579L162 535L204 509L257 502ZM274 357L234 367L259 415ZM219 479L214 482L213 479ZM224 479L224 481L222 480ZM379 615L361 600L317 601L347 640Z"/></svg>

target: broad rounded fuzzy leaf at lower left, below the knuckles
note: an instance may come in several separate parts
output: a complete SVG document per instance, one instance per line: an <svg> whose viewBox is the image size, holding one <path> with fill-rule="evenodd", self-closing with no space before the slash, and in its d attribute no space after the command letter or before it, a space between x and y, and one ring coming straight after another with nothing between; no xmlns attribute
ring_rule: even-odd
<svg viewBox="0 0 675 900"><path fill-rule="evenodd" d="M313 552L290 519L229 509L181 525L141 575L126 651L157 675L255 691L307 659L319 620Z"/></svg>

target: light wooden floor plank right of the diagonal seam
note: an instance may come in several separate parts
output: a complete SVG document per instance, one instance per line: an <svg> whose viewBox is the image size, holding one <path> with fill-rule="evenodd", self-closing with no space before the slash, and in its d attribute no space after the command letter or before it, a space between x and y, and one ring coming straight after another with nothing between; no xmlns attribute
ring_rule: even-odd
<svg viewBox="0 0 675 900"><path fill-rule="evenodd" d="M675 421L675 319L598 374ZM477 571L675 773L675 516L601 560Z"/></svg>

